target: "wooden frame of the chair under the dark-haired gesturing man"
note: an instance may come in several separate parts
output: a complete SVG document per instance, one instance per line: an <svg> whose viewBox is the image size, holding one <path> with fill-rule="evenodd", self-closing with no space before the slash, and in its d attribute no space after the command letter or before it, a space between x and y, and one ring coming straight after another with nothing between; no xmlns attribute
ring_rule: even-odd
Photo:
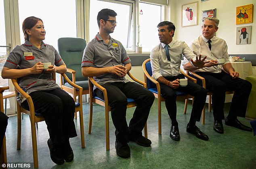
<svg viewBox="0 0 256 169"><path fill-rule="evenodd" d="M157 93L153 93L155 95L155 98L157 98L157 105L158 105L158 134L162 134L162 117L161 117L161 102L165 101L164 98L161 96L161 89L160 89L160 84L159 82L157 82L157 80L153 79L149 73L147 72L146 69L146 63L150 62L150 58L145 60L142 64L142 69L144 72L144 81L145 83L147 83L147 78L155 83L156 88L157 88ZM191 76L188 76L187 74L185 74L185 72L183 72L183 70L180 69L180 72L182 74L184 74L184 76L190 80L192 80L194 83L197 82L197 80L195 78L192 78ZM187 112L187 103L188 103L188 99L193 99L193 96L191 95L178 95L177 96L178 99L185 99L185 106L184 106L184 114L186 114Z"/></svg>

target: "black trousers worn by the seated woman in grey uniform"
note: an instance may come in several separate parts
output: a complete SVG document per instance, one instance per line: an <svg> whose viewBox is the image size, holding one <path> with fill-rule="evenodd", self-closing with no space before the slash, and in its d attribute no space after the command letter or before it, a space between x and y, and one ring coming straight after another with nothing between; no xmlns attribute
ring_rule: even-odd
<svg viewBox="0 0 256 169"><path fill-rule="evenodd" d="M35 111L45 119L50 139L56 145L63 144L65 139L76 137L74 123L75 101L61 88L49 91L34 91L29 94ZM21 106L29 109L27 101Z"/></svg>

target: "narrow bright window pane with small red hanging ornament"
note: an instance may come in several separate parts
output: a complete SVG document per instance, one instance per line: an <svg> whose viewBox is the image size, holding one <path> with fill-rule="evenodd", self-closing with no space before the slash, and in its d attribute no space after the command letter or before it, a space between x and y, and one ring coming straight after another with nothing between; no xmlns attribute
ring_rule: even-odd
<svg viewBox="0 0 256 169"><path fill-rule="evenodd" d="M139 45L143 52L151 52L160 43L157 25L161 22L161 7L139 2Z"/></svg>

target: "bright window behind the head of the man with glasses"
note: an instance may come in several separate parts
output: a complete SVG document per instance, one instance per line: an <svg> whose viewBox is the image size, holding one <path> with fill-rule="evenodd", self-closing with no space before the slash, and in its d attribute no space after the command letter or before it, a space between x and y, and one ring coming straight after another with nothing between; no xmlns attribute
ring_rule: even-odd
<svg viewBox="0 0 256 169"><path fill-rule="evenodd" d="M117 26L111 37L120 41L127 51L134 51L135 33L134 33L134 3L135 1L114 1L114 0L90 0L90 40L92 40L97 32L99 26L97 23L98 12L104 8L114 10L118 15L116 16ZM97 9L97 10L95 10Z"/></svg>

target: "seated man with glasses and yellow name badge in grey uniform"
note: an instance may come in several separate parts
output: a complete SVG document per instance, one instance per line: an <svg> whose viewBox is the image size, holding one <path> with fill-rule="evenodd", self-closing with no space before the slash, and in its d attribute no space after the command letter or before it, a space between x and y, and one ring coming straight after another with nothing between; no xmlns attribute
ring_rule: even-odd
<svg viewBox="0 0 256 169"><path fill-rule="evenodd" d="M103 9L98 13L99 33L84 49L82 74L84 77L93 76L94 80L107 90L115 126L116 152L120 157L128 158L129 140L141 146L151 145L151 141L142 136L142 130L147 122L154 95L141 85L125 78L131 69L131 60L122 43L109 35L116 27L115 16L116 12L110 9ZM101 90L94 88L94 93L104 99ZM129 126L126 122L127 97L137 103Z"/></svg>

